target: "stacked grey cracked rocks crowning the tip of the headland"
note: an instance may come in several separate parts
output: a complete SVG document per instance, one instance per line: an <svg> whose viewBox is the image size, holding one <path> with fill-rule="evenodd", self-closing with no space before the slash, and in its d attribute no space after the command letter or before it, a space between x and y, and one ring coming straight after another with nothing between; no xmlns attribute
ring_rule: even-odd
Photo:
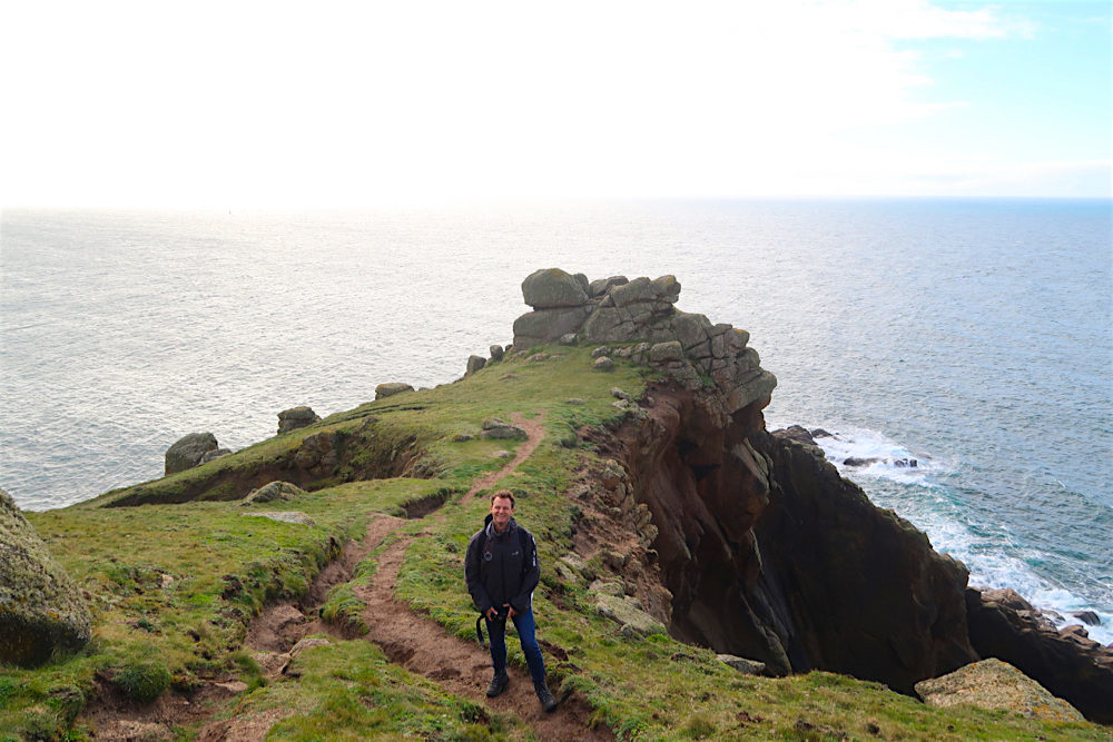
<svg viewBox="0 0 1113 742"><path fill-rule="evenodd" d="M534 310L514 320L516 350L567 344L568 336L590 344L641 340L638 349L605 355L649 363L689 389L715 387L728 414L754 402L768 404L777 385L776 377L761 368L757 352L747 347L749 333L676 308L680 284L674 276L653 280L612 276L589 283L582 274L548 268L522 283L522 295Z"/></svg>

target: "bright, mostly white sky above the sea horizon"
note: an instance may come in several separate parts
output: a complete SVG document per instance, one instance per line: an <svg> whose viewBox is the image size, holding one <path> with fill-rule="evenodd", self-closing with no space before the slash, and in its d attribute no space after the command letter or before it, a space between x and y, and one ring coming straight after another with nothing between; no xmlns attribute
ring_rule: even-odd
<svg viewBox="0 0 1113 742"><path fill-rule="evenodd" d="M0 0L0 206L1109 198L1111 4Z"/></svg>

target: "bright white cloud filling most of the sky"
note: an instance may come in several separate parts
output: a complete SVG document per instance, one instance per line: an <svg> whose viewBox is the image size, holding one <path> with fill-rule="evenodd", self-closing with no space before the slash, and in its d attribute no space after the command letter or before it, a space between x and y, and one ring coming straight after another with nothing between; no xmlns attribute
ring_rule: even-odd
<svg viewBox="0 0 1113 742"><path fill-rule="evenodd" d="M904 42L1020 28L926 0L42 2L6 27L0 62L28 72L4 202L132 205L853 180L841 132L955 105Z"/></svg>

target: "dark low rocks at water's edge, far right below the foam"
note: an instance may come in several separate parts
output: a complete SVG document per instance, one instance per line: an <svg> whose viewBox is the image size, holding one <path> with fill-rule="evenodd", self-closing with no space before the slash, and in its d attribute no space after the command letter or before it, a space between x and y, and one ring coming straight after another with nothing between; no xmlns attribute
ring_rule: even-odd
<svg viewBox="0 0 1113 742"><path fill-rule="evenodd" d="M1091 721L1113 724L1113 651L1084 632L1056 631L1013 591L971 588L966 609L979 655L1017 667Z"/></svg>

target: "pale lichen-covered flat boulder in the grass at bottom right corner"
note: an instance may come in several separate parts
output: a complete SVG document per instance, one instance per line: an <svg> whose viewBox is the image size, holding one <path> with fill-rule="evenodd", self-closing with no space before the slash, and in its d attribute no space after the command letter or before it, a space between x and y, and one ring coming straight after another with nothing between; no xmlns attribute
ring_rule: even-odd
<svg viewBox="0 0 1113 742"><path fill-rule="evenodd" d="M942 677L922 681L916 683L916 693L932 706L1004 709L1031 719L1083 721L1077 709L1001 660L982 660Z"/></svg>

